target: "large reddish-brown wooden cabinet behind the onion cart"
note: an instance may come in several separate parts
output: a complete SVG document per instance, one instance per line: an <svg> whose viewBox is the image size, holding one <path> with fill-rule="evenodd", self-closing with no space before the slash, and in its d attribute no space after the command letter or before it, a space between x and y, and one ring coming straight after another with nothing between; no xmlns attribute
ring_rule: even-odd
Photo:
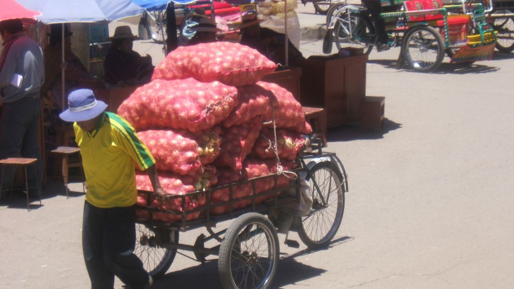
<svg viewBox="0 0 514 289"><path fill-rule="evenodd" d="M309 57L301 64L300 102L325 108L327 127L358 122L366 94L367 61L366 54Z"/></svg>

